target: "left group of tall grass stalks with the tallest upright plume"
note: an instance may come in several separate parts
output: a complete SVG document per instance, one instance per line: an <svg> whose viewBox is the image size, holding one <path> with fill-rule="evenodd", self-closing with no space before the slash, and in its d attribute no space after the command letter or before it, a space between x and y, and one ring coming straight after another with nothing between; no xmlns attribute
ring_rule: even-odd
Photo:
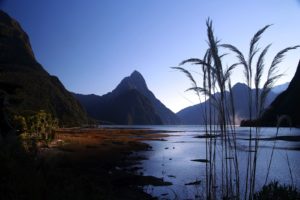
<svg viewBox="0 0 300 200"><path fill-rule="evenodd" d="M222 196L224 198L228 198L233 195L233 178L231 176L232 166L235 166L232 162L232 159L229 159L232 155L230 147L230 140L228 135L228 123L227 117L227 105L226 105L226 82L228 81L231 71L237 66L237 64L231 65L226 70L223 68L221 57L219 55L219 41L214 37L212 21L207 20L207 35L208 35L208 53L205 56L205 59L197 59L191 58L183 61L180 65L184 65L186 63L193 63L202 65L203 72L205 72L205 76L203 77L203 86L198 87L197 84L193 84L196 87L192 87L189 90L197 91L198 93L204 94L209 98L209 102L211 105L214 105L214 109L209 106L209 139L206 140L206 157L209 158L209 165L207 165L207 177L206 180L208 183L206 184L207 198L211 199L212 197L216 197L216 137L217 130L221 132L221 165L222 165L222 176L221 176L221 190ZM178 68L179 69L179 68ZM181 70L183 71L183 70ZM184 72L186 73L186 72ZM188 75L190 77L191 74ZM190 80L194 80L194 78L190 77ZM215 91L220 93L220 96L215 96ZM212 114L216 112L217 114ZM207 113L206 113L207 114ZM214 118L217 117L217 120ZM215 124L218 124L218 129L214 127ZM235 154L234 154L235 155ZM237 160L237 159L235 159ZM237 174L237 173L235 173ZM235 178L235 180L237 180ZM235 190L238 191L238 190Z"/></svg>

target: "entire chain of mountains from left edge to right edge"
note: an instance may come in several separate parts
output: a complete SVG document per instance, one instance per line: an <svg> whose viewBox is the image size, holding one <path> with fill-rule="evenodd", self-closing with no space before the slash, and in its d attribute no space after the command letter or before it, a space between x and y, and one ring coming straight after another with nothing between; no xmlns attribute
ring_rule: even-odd
<svg viewBox="0 0 300 200"><path fill-rule="evenodd" d="M17 21L1 10L0 46L0 97L8 102L5 103L5 110L11 118L45 110L57 117L64 126L85 124L87 116L110 124L205 123L203 112L210 106L209 100L174 114L148 89L143 76L137 71L103 96L70 93L57 77L51 76L36 61L27 34ZM249 118L248 89L241 83L232 89L236 123ZM266 101L266 106L270 106L262 118L244 121L245 125L275 125L277 117L285 115L294 126L300 126L299 89L300 62L290 84L285 83L271 90ZM215 95L217 97L219 94Z"/></svg>

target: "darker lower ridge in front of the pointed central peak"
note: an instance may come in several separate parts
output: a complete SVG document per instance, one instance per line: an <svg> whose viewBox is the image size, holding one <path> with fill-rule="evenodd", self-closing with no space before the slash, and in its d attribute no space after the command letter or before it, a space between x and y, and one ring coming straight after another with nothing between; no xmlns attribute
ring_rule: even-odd
<svg viewBox="0 0 300 200"><path fill-rule="evenodd" d="M154 125L162 124L153 106L137 90L131 89L119 95L103 96L74 94L86 107L90 117L107 124Z"/></svg>

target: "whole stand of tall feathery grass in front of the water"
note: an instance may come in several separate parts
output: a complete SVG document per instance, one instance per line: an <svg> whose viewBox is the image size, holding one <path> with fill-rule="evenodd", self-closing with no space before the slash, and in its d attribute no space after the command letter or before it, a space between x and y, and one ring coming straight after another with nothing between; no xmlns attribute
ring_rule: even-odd
<svg viewBox="0 0 300 200"><path fill-rule="evenodd" d="M200 100L204 96L204 100L209 101L210 106L208 108L205 107L199 113L199 115L203 115L206 121L206 134L217 136L221 133L221 151L217 149L217 145L219 144L217 144L216 137L208 137L206 139L206 160L209 160L206 164L206 198L249 200L260 198L264 195L255 194L255 191L258 190L256 188L256 171L259 155L260 128L249 127L249 143L246 150L248 152L246 177L241 178L237 152L236 113L231 87L231 74L237 67L242 67L246 84L249 87L248 110L250 120L260 118L265 108L268 93L275 81L282 76L282 74L278 73L279 64L288 51L297 49L300 46L288 47L279 51L266 70L265 57L271 45L260 48L258 42L270 25L263 27L254 34L250 41L248 57L244 56L237 47L231 44L220 44L220 41L214 35L211 20L207 20L206 25L208 49L204 57L187 59L182 61L179 67L174 67L174 69L183 72L191 81L192 87L188 91L194 91ZM236 56L237 62L225 67L224 59L230 55ZM193 70L189 71L182 67L182 65L187 63L200 66L200 72L198 73L201 74L200 83L193 76L191 72ZM262 83L265 71L266 81ZM261 87L262 89L260 90ZM255 89L254 95L251 92L252 88ZM279 123L280 121L278 125ZM287 162L289 163L288 157ZM268 183L271 163L272 156L269 161L265 184ZM216 166L222 167L220 178L217 177ZM272 191L266 190L267 187L265 186L263 191ZM275 188L275 190L277 188L272 187L272 184L270 187L272 189Z"/></svg>

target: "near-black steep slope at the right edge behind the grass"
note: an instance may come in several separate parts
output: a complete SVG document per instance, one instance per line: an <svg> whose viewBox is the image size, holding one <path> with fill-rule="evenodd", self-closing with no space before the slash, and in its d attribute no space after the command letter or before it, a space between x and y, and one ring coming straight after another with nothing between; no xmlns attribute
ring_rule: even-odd
<svg viewBox="0 0 300 200"><path fill-rule="evenodd" d="M242 126L276 126L277 120L281 118L280 116L285 116L283 126L292 125L295 127L300 127L300 60L298 63L297 71L290 82L288 88L279 94L276 99L271 103L271 105L263 113L262 117L253 121L243 121ZM282 118L283 119L283 118ZM290 121L290 122L287 122Z"/></svg>

